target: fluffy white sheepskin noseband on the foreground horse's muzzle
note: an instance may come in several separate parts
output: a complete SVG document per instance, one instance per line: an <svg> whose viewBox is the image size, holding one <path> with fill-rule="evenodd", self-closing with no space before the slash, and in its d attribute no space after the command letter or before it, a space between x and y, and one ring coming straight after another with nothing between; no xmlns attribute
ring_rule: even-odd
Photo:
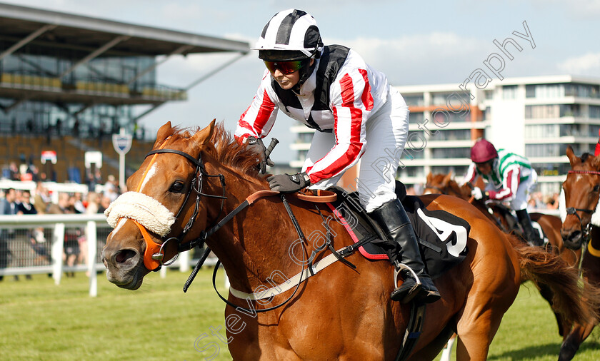
<svg viewBox="0 0 600 361"><path fill-rule="evenodd" d="M104 211L104 215L112 228L119 223L119 218L130 218L161 237L168 235L171 225L175 223L175 215L170 210L158 200L139 192L119 195Z"/></svg>

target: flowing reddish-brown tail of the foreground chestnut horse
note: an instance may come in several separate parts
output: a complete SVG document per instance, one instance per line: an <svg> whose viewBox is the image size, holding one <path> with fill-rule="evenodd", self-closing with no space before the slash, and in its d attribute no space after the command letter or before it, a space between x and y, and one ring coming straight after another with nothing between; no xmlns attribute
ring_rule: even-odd
<svg viewBox="0 0 600 361"><path fill-rule="evenodd" d="M543 284L553 293L552 308L566 320L579 324L596 324L600 320L600 288L579 278L579 270L558 255L543 248L531 247L514 235L511 243L519 254L521 278L538 287Z"/></svg>

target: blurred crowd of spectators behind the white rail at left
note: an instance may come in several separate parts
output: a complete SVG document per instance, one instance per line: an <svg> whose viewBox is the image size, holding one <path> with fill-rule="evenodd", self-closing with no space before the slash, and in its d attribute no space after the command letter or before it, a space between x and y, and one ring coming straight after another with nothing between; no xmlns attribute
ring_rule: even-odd
<svg viewBox="0 0 600 361"><path fill-rule="evenodd" d="M100 182L100 178L96 178ZM94 187L95 188L95 187ZM122 190L114 176L109 176L103 184L103 192L91 190L87 193L59 193L53 197L44 183L38 181L34 192L15 188L5 189L0 193L0 215L32 215L32 214L72 214L72 213L104 213L110 203L118 197ZM29 258L33 253L35 265L51 264L50 249L51 229L34 228L16 232L14 229L0 229L0 268L22 265L22 245L27 244ZM84 230L66 228L64 239L63 261L67 266L87 263L87 245ZM19 248L21 247L21 248ZM16 251L19 249L18 251ZM19 253L19 254L17 254ZM74 276L74 273L67 273ZM0 275L0 280L4 276ZM14 276L18 280L18 276Z"/></svg>

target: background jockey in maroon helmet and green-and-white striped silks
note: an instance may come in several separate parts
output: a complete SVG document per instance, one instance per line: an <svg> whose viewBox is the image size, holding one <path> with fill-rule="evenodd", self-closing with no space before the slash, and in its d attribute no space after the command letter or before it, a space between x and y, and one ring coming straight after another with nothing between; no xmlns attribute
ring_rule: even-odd
<svg viewBox="0 0 600 361"><path fill-rule="evenodd" d="M471 148L471 166L464 177L463 184L474 183L477 176L486 180L486 190L478 187L471 190L475 199L488 198L510 202L516 218L523 228L524 235L532 245L542 245L543 240L531 225L527 213L529 191L536 184L537 174L531 163L521 156L496 148L485 139L480 139Z"/></svg>

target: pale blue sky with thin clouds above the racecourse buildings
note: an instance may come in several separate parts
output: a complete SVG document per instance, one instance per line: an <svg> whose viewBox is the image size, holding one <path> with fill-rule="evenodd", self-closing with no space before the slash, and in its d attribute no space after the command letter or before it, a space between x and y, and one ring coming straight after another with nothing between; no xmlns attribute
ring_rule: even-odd
<svg viewBox="0 0 600 361"><path fill-rule="evenodd" d="M511 37L522 47L501 76L571 74L600 78L600 1L586 0L0 0L7 4L247 41L259 37L276 12L296 8L316 19L325 44L356 50L396 86L463 83L488 56L494 40ZM526 34L533 44L514 31ZM185 88L232 54L171 57L157 68L161 84ZM183 127L224 121L234 131L259 86L264 64L256 51L191 88L188 101L171 102L141 119L151 133L171 121ZM276 162L290 161L293 120L280 114L268 136L282 145Z"/></svg>

